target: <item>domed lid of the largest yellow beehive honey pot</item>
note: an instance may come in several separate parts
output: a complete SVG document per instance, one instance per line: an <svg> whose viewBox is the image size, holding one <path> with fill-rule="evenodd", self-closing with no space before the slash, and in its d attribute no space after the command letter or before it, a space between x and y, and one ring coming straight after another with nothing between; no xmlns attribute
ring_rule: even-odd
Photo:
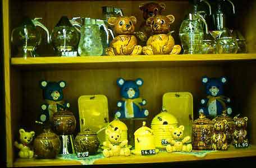
<svg viewBox="0 0 256 168"><path fill-rule="evenodd" d="M168 113L167 110L163 109L161 113L157 114L152 122L151 125L173 125L178 124L178 120L175 116Z"/></svg>

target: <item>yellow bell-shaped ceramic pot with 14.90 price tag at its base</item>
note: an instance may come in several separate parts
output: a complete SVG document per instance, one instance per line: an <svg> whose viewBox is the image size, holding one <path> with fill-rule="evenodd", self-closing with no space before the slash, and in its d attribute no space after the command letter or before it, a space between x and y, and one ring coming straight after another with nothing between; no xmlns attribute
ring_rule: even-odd
<svg viewBox="0 0 256 168"><path fill-rule="evenodd" d="M134 155L154 155L159 151L154 144L153 130L146 127L146 122L135 131L134 141L135 149L131 151Z"/></svg>

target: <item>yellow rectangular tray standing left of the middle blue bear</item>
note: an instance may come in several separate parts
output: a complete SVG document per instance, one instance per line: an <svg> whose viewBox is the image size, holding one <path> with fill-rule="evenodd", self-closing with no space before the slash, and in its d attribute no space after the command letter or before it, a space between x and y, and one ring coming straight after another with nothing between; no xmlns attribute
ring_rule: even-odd
<svg viewBox="0 0 256 168"><path fill-rule="evenodd" d="M108 100L104 95L84 95L78 99L80 131L86 128L94 132L107 126ZM98 134L100 142L104 141L104 130Z"/></svg>

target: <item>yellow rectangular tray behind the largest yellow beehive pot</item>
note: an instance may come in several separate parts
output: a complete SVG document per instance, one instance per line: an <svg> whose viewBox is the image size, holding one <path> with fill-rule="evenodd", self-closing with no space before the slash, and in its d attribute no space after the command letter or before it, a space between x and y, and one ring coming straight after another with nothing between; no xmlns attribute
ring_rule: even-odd
<svg viewBox="0 0 256 168"><path fill-rule="evenodd" d="M178 125L184 125L184 137L192 137L193 96L189 92L168 92L163 95L163 107L174 115Z"/></svg>

